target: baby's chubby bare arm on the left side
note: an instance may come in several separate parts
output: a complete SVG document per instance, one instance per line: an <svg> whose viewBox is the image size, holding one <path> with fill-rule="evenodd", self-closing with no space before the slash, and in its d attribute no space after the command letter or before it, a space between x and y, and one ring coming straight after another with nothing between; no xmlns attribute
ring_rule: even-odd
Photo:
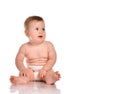
<svg viewBox="0 0 120 94"><path fill-rule="evenodd" d="M22 45L16 55L15 63L19 71L24 70L25 45Z"/></svg>

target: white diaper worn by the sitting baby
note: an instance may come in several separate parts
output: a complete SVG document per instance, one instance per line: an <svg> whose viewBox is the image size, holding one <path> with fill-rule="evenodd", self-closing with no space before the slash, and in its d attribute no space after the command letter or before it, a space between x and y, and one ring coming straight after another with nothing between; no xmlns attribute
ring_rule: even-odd
<svg viewBox="0 0 120 94"><path fill-rule="evenodd" d="M28 68L32 69L34 72L34 80L40 80L40 77L38 77L39 71L42 69L43 66L32 66L28 65Z"/></svg>

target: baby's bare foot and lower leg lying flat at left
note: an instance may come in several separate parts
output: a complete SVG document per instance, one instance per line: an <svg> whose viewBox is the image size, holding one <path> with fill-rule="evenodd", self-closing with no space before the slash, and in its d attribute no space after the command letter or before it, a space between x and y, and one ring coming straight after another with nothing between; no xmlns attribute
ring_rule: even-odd
<svg viewBox="0 0 120 94"><path fill-rule="evenodd" d="M11 76L10 77L10 82L12 84L26 84L28 83L28 79L25 77L16 77L16 76Z"/></svg>

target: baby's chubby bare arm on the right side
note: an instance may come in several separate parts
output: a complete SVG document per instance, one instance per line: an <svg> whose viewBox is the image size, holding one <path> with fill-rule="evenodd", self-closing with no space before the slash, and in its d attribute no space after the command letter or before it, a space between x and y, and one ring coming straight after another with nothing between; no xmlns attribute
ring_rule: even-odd
<svg viewBox="0 0 120 94"><path fill-rule="evenodd" d="M48 42L48 61L44 65L43 70L51 70L56 62L56 51L52 43Z"/></svg>

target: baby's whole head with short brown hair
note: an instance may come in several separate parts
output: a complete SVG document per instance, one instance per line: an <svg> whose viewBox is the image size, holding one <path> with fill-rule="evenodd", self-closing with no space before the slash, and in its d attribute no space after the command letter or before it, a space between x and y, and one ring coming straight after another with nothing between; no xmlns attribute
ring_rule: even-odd
<svg viewBox="0 0 120 94"><path fill-rule="evenodd" d="M41 43L45 39L45 23L40 16L30 16L24 22L25 34L32 43Z"/></svg>

